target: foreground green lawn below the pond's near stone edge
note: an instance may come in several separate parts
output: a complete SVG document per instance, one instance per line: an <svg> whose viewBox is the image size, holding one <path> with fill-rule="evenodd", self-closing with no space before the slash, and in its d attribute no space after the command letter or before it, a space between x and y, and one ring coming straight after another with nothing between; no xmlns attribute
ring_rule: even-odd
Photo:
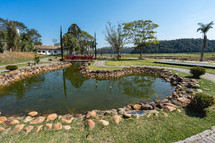
<svg viewBox="0 0 215 143"><path fill-rule="evenodd" d="M170 143L185 139L215 125L215 112L209 112L207 117L201 118L190 113L173 112L164 117L162 113L156 117L146 116L136 119L127 119L120 124L115 124L109 116L99 117L110 122L109 126L103 127L98 123L98 119L93 119L96 126L93 130L87 127L86 121L74 121L70 131L41 130L35 134L33 132L27 136L12 131L6 135L0 133L0 141L7 142L141 142L141 143ZM55 121L56 122L56 121ZM44 124L45 125L45 124ZM13 128L12 128L13 129Z"/></svg>

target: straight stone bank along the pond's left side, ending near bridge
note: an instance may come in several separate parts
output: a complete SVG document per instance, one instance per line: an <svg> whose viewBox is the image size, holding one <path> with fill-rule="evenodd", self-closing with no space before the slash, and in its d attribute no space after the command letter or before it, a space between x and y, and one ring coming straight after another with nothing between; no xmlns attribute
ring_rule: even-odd
<svg viewBox="0 0 215 143"><path fill-rule="evenodd" d="M46 72L51 72L59 69L63 69L71 66L72 64L69 62L57 63L53 65L46 65L41 67L32 67L21 70L10 71L9 73L0 75L0 88L8 86L14 82L25 79L27 77L38 75Z"/></svg>

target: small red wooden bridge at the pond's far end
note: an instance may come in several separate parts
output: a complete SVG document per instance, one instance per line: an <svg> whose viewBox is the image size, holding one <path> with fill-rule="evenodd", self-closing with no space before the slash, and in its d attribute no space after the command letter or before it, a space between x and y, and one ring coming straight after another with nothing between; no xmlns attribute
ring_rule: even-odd
<svg viewBox="0 0 215 143"><path fill-rule="evenodd" d="M65 61L70 61L70 62L89 62L93 61L93 56L82 56L82 55L77 55L77 56L65 56L64 57Z"/></svg>

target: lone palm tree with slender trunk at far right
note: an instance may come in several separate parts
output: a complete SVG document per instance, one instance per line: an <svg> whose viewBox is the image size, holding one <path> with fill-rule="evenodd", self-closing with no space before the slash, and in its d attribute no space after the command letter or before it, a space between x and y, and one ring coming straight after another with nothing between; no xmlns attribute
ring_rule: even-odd
<svg viewBox="0 0 215 143"><path fill-rule="evenodd" d="M201 58L200 58L200 61L203 61L203 56L204 56L204 50L206 48L206 43L207 43L207 35L206 33L209 31L209 29L213 28L212 25L213 25L213 21L211 21L209 24L202 24L202 23L198 23L198 25L200 26L198 29L197 29L197 32L201 32L203 33L203 46L202 46L202 51L201 51Z"/></svg>

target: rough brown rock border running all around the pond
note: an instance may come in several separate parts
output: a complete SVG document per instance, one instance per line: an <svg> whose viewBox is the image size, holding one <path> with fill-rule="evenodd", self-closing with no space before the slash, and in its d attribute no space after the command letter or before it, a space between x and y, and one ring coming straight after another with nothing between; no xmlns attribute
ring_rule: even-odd
<svg viewBox="0 0 215 143"><path fill-rule="evenodd" d="M150 75L156 75L160 78L163 78L166 82L170 82L171 85L175 86L175 91L172 93L171 96L169 96L167 99L158 100L155 102L144 102L139 104L130 104L127 106L124 106L123 108L118 109L111 109L111 110L93 110L88 111L83 114L74 114L74 115L57 115L56 113L49 114L48 116L38 116L38 112L32 111L28 113L28 116L21 116L21 117L3 117L0 116L0 124L3 124L4 126L11 126L17 124L13 132L20 132L24 127L25 124L21 123L30 123L32 125L38 125L36 127L36 133L38 133L41 128L43 128L43 125L40 125L41 123L46 122L46 125L44 128L46 130L54 129L65 129L69 130L71 129L71 126L68 125L72 123L73 119L80 119L81 121L85 119L84 121L87 122L88 127L90 129L93 129L95 127L95 122L93 120L97 120L100 124L107 126L109 125L109 122L106 120L99 120L98 116L111 116L114 123L119 124L122 119L129 119L132 117L131 112L135 111L143 111L145 113L148 113L147 117L150 117L152 114L155 116L158 116L159 111L158 108L162 111L178 111L181 112L180 106L185 107L187 104L190 103L190 95L195 95L195 92L192 88L199 88L199 84L194 79L186 79L183 77L178 76L178 74L173 74L170 71L167 71L165 69L160 68L149 68L149 67L130 67L130 68L123 68L122 70L114 70L114 71L106 71L106 70L97 70L97 71L90 71L87 67L88 63L80 66L80 72L83 76L89 77L89 78L97 78L97 79L109 79L109 78L118 78L122 76L128 76L132 74L150 74ZM9 83L15 82L17 80L22 79L22 77L29 77L34 74L40 74L43 72L53 71L56 69L66 68L71 66L71 63L60 63L52 66L43 66L42 68L32 68L30 70L19 70L14 71L9 74L6 74L4 78L10 79ZM36 71L35 71L36 70ZM27 74L26 74L27 73ZM15 77L18 77L16 79ZM7 81L7 80L6 80ZM8 85L8 84L6 84ZM163 116L167 117L168 115L163 112ZM123 117L123 118L122 118ZM137 115L138 118L138 115ZM46 119L46 120L45 120ZM52 124L48 123L48 121L55 120L57 123ZM58 121L57 121L58 120ZM62 123L66 123L67 125L63 126ZM52 127L53 125L53 127ZM33 126L26 127L23 131L28 134L31 132ZM0 131L3 131L3 134L7 133L11 127L5 128L0 126Z"/></svg>

